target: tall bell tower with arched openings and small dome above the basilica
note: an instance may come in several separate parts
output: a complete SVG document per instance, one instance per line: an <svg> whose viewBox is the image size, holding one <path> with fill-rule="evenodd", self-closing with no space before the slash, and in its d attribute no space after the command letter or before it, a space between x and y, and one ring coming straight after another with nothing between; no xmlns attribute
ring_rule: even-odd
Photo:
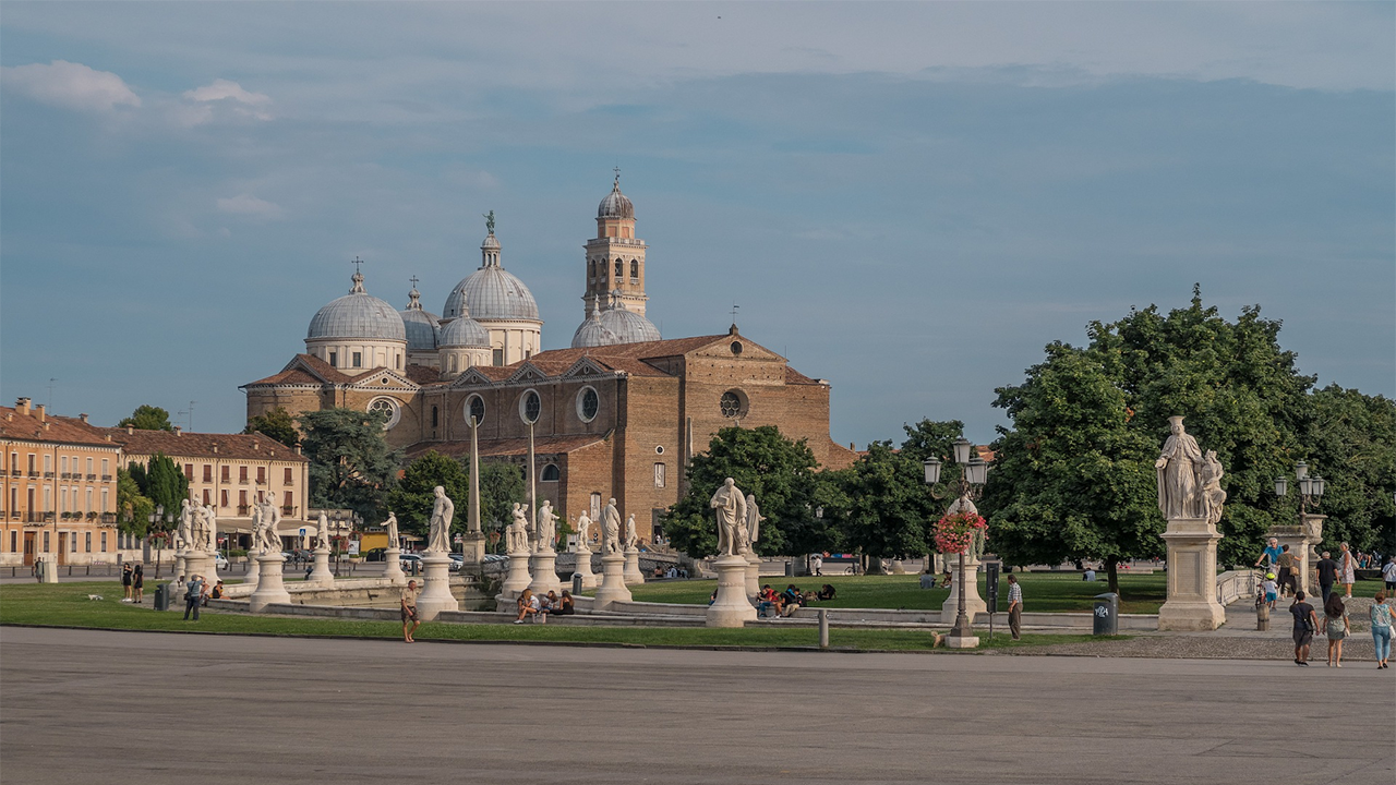
<svg viewBox="0 0 1396 785"><path fill-rule="evenodd" d="M618 295L614 295L618 292ZM586 293L582 317L593 303L616 296L625 310L645 314L645 242L635 237L635 205L620 193L620 169L611 193L596 208L596 237L586 240Z"/></svg>

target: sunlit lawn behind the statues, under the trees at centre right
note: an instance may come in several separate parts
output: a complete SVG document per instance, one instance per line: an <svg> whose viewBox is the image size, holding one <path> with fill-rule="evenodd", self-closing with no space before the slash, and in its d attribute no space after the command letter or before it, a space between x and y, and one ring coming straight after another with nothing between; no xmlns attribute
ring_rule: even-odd
<svg viewBox="0 0 1396 785"><path fill-rule="evenodd" d="M1104 580L1086 582L1075 573L1013 573L1023 587L1023 610L1039 613L1089 612L1092 599L1104 594L1108 587ZM804 591L818 589L831 584L838 595L819 608L905 608L912 610L934 610L945 602L951 591L920 588L920 575L824 575L785 578L782 575L762 577L762 584L771 584L780 591L794 582ZM685 605L705 603L712 595L716 581L662 581L634 585L630 588L635 599L642 602L680 602ZM1164 574L1120 575L1121 613L1157 613L1163 605ZM984 577L979 580L979 594L984 596ZM1008 609L1008 581L1000 577L998 608Z"/></svg>

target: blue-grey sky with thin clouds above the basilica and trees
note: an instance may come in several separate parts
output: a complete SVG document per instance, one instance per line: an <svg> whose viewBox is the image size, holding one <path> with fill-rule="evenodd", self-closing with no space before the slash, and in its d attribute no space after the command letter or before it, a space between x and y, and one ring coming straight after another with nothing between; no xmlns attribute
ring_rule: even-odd
<svg viewBox="0 0 1396 785"><path fill-rule="evenodd" d="M666 338L959 419L1092 320L1283 320L1396 395L1393 3L24 3L0 18L0 399L239 430L349 291L503 263L584 317L613 168ZM190 413L190 402L193 413Z"/></svg>

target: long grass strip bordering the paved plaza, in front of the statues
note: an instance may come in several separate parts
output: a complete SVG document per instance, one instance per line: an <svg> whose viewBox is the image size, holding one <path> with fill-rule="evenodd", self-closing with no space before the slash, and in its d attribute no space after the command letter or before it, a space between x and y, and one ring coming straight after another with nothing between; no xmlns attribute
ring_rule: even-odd
<svg viewBox="0 0 1396 785"><path fill-rule="evenodd" d="M338 636L357 638L401 638L402 624L395 622L355 622L342 619L286 619L240 613L205 613L198 622L184 622L183 612L158 613L147 605L121 602L112 592L112 582L21 584L0 587L0 624L40 624L98 627L109 630L163 630L201 633L246 633L282 636ZM105 599L89 601L88 594ZM983 633L981 633L983 634ZM627 645L692 647L815 647L818 630L805 629L645 629L645 627L564 627L561 624L436 624L417 630L419 640L462 641L553 641ZM931 634L914 630L831 630L833 648L916 651L931 647ZM1061 643L1081 643L1092 636L1027 634L1012 641L1007 634L993 643L981 637L981 648L1025 648Z"/></svg>

